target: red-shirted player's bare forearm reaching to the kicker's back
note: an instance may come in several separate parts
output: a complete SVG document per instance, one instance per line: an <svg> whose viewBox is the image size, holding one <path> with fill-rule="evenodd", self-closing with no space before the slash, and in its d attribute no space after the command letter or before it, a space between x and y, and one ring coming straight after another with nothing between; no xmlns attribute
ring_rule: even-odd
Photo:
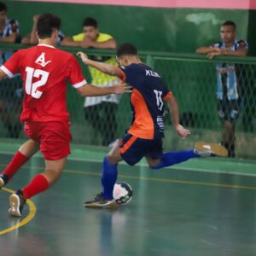
<svg viewBox="0 0 256 256"><path fill-rule="evenodd" d="M92 84L84 84L77 88L77 91L81 96L105 96L109 94L122 94L124 92L130 92L131 87L119 82L110 87L97 87Z"/></svg>

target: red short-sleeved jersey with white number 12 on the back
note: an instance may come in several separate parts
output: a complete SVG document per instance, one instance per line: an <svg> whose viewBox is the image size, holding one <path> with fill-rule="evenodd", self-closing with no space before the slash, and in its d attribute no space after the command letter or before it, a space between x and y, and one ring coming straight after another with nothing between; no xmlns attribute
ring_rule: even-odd
<svg viewBox="0 0 256 256"><path fill-rule="evenodd" d="M74 88L86 84L76 58L48 44L20 49L0 68L9 78L20 73L23 79L21 122L67 121L67 81Z"/></svg>

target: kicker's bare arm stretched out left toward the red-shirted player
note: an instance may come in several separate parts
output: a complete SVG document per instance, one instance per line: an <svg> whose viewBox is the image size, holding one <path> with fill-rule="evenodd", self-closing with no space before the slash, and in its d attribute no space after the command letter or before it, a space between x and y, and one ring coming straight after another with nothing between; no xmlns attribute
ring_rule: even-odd
<svg viewBox="0 0 256 256"><path fill-rule="evenodd" d="M90 67L95 67L96 69L100 70L102 73L107 73L111 76L119 77L120 79L124 78L124 73L118 67L110 65L108 63L99 62L99 61L92 61L85 55L83 52L79 51L77 55L81 58L85 65Z"/></svg>

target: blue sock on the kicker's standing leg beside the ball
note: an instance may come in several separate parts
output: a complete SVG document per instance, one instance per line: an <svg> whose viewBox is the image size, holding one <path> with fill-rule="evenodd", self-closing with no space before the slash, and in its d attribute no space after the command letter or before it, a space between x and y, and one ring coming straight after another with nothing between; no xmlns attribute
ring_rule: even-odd
<svg viewBox="0 0 256 256"><path fill-rule="evenodd" d="M113 199L113 186L117 180L117 176L117 164L111 164L108 157L105 156L102 166L102 187L104 198Z"/></svg>

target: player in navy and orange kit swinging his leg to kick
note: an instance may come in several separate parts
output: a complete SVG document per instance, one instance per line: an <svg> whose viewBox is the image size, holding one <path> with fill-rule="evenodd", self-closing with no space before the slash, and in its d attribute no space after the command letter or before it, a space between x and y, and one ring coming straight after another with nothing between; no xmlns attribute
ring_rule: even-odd
<svg viewBox="0 0 256 256"><path fill-rule="evenodd" d="M133 166L146 157L148 166L160 169L166 166L200 157L202 155L226 155L227 151L218 144L203 145L198 143L195 149L183 152L163 153L162 137L164 137L163 110L164 102L172 113L172 124L181 137L187 137L190 131L179 124L177 102L172 92L152 68L145 65L137 55L137 49L132 44L122 44L117 49L119 67L106 63L91 61L87 55L79 52L84 64L96 67L103 73L119 77L131 85L132 123L127 135L119 141L103 160L102 193L91 201L86 201L84 207L113 207L113 185L117 179L117 165L125 160ZM204 149L203 147L210 149Z"/></svg>

